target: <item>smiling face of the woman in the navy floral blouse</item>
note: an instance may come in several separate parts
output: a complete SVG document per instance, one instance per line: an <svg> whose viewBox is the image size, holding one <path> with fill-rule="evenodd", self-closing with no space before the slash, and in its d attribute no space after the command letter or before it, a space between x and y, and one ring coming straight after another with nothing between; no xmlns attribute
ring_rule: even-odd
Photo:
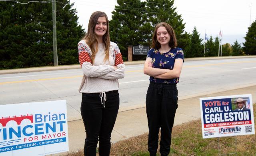
<svg viewBox="0 0 256 156"><path fill-rule="evenodd" d="M170 38L171 36L164 26L160 26L156 30L156 39L161 44L161 46L166 44L168 45L170 42Z"/></svg>

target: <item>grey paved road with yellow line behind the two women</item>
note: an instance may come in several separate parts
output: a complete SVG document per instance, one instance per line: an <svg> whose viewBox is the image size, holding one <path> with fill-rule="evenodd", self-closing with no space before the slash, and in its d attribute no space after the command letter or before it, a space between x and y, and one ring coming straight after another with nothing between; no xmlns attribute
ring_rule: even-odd
<svg viewBox="0 0 256 156"><path fill-rule="evenodd" d="M143 64L127 65L120 82L120 110L145 106ZM184 62L179 99L256 85L256 58ZM0 104L67 100L68 120L80 119L80 69L0 75Z"/></svg>

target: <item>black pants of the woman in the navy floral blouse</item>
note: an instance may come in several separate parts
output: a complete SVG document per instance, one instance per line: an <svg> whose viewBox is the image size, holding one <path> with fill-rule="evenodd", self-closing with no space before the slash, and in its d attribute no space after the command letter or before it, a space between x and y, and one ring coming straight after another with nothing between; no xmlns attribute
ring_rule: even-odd
<svg viewBox="0 0 256 156"><path fill-rule="evenodd" d="M161 128L160 153L170 153L171 134L174 116L178 108L178 90L176 84L157 84L150 82L146 96L148 117L148 151L155 156L158 148L158 133Z"/></svg>

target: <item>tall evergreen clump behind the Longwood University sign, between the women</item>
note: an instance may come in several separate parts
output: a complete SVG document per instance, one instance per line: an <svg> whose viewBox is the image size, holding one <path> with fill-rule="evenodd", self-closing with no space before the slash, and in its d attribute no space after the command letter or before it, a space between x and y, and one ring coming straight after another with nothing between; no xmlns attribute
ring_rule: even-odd
<svg viewBox="0 0 256 156"><path fill-rule="evenodd" d="M123 57L127 57L128 46L150 45L152 34L159 22L169 23L176 32L178 46L183 50L189 46L189 34L184 32L181 15L173 6L173 0L117 0L118 6L112 12L110 39L116 42ZM135 59L134 59L135 58ZM134 56L145 59L146 56Z"/></svg>

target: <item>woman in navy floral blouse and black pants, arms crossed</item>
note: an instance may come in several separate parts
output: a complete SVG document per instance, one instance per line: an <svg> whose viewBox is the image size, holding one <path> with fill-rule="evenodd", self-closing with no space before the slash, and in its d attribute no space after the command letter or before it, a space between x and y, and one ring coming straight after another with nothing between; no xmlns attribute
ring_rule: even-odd
<svg viewBox="0 0 256 156"><path fill-rule="evenodd" d="M178 108L176 84L179 82L184 54L181 48L176 48L175 32L165 22L156 25L151 46L144 64L144 74L150 76L146 95L148 151L150 156L156 156L161 128L160 154L167 156L170 153L172 127Z"/></svg>

